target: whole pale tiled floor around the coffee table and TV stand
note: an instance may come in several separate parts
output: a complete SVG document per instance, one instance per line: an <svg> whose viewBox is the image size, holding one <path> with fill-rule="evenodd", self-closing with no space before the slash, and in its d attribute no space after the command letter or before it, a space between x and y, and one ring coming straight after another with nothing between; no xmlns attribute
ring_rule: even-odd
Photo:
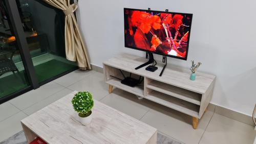
<svg viewBox="0 0 256 144"><path fill-rule="evenodd" d="M108 93L103 75L97 71L80 71L54 80L36 90L0 105L0 141L22 130L20 120L74 90L89 90L94 99L158 129L161 133L184 143L253 143L252 126L208 111L199 121L197 130L191 117L120 89Z"/></svg>

